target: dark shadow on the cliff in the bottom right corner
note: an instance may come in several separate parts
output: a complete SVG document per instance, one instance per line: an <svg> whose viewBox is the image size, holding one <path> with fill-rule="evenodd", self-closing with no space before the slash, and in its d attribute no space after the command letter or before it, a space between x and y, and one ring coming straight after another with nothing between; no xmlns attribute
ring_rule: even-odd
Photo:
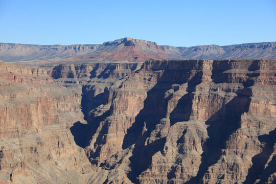
<svg viewBox="0 0 276 184"><path fill-rule="evenodd" d="M264 170L270 155L273 153L273 146L276 143L276 128L269 134L258 136L261 142L262 152L252 157L252 166L248 169L244 184L254 183L257 179L261 179L258 183L265 183L268 176L276 171L275 156L270 161L268 167Z"/></svg>

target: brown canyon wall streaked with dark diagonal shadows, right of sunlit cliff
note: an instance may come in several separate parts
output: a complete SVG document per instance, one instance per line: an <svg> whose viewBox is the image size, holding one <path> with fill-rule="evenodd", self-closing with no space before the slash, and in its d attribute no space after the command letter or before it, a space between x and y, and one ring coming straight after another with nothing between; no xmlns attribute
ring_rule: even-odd
<svg viewBox="0 0 276 184"><path fill-rule="evenodd" d="M83 86L88 124L72 127L76 143L97 168L90 181L273 180L275 61L96 65Z"/></svg>

